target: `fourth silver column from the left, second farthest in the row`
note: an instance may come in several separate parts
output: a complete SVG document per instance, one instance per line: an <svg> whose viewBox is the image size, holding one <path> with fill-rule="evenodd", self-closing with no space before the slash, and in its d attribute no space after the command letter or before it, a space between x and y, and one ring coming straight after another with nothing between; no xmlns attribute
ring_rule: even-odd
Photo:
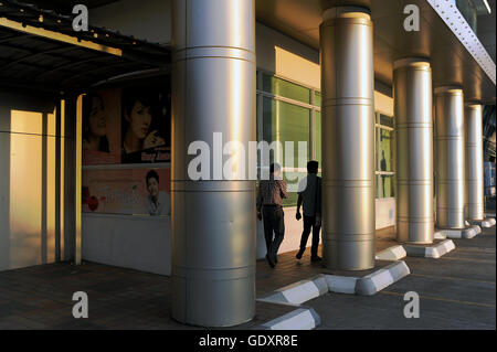
<svg viewBox="0 0 497 352"><path fill-rule="evenodd" d="M464 224L464 96L459 87L435 89L436 225Z"/></svg>

